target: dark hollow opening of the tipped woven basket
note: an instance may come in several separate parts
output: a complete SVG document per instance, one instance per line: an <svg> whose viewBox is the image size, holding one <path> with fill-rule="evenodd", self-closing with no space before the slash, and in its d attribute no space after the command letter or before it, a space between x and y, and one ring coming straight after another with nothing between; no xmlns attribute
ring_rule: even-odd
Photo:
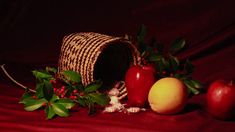
<svg viewBox="0 0 235 132"><path fill-rule="evenodd" d="M124 80L125 73L133 62L131 49L123 42L108 44L99 55L94 67L94 79L103 81L104 89L116 81Z"/></svg>

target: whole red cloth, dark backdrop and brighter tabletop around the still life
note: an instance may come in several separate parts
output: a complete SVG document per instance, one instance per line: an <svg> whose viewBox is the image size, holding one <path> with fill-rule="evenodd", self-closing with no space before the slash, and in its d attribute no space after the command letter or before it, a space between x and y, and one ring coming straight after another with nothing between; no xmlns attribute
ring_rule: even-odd
<svg viewBox="0 0 235 132"><path fill-rule="evenodd" d="M0 1L0 62L22 83L34 81L30 71L57 65L63 36L73 32L135 35L145 24L152 36L169 45L177 37L188 48L178 54L195 65L195 79L205 84L235 78L235 2L178 1ZM72 112L69 118L45 120L43 111L25 112L18 104L23 90L0 74L0 128L27 131L234 131L234 121L216 120L205 108L205 94L194 96L183 113L136 115Z"/></svg>

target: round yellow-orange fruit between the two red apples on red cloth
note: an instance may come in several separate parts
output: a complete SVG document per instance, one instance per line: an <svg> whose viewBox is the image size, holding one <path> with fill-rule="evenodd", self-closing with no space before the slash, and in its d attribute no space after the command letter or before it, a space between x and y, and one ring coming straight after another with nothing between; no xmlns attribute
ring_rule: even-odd
<svg viewBox="0 0 235 132"><path fill-rule="evenodd" d="M151 87L148 101L151 109L157 113L176 114L187 102L187 89L177 78L162 78Z"/></svg>

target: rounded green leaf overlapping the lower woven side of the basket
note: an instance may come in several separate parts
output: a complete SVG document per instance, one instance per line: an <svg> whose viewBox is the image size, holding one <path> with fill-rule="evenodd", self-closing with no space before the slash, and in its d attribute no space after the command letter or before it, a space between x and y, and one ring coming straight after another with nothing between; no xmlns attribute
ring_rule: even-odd
<svg viewBox="0 0 235 132"><path fill-rule="evenodd" d="M81 82L81 75L75 71L67 70L67 71L64 71L63 74L68 81L72 81L75 83Z"/></svg>

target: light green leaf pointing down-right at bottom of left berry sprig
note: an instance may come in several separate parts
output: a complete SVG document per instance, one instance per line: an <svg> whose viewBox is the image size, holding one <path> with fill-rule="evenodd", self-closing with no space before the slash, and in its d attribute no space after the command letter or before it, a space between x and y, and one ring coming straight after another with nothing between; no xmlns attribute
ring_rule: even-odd
<svg viewBox="0 0 235 132"><path fill-rule="evenodd" d="M52 109L53 111L61 116L61 117L67 117L69 116L69 111L68 109L66 109L66 107L64 107L62 104L58 104L58 103L51 103L52 105Z"/></svg>

